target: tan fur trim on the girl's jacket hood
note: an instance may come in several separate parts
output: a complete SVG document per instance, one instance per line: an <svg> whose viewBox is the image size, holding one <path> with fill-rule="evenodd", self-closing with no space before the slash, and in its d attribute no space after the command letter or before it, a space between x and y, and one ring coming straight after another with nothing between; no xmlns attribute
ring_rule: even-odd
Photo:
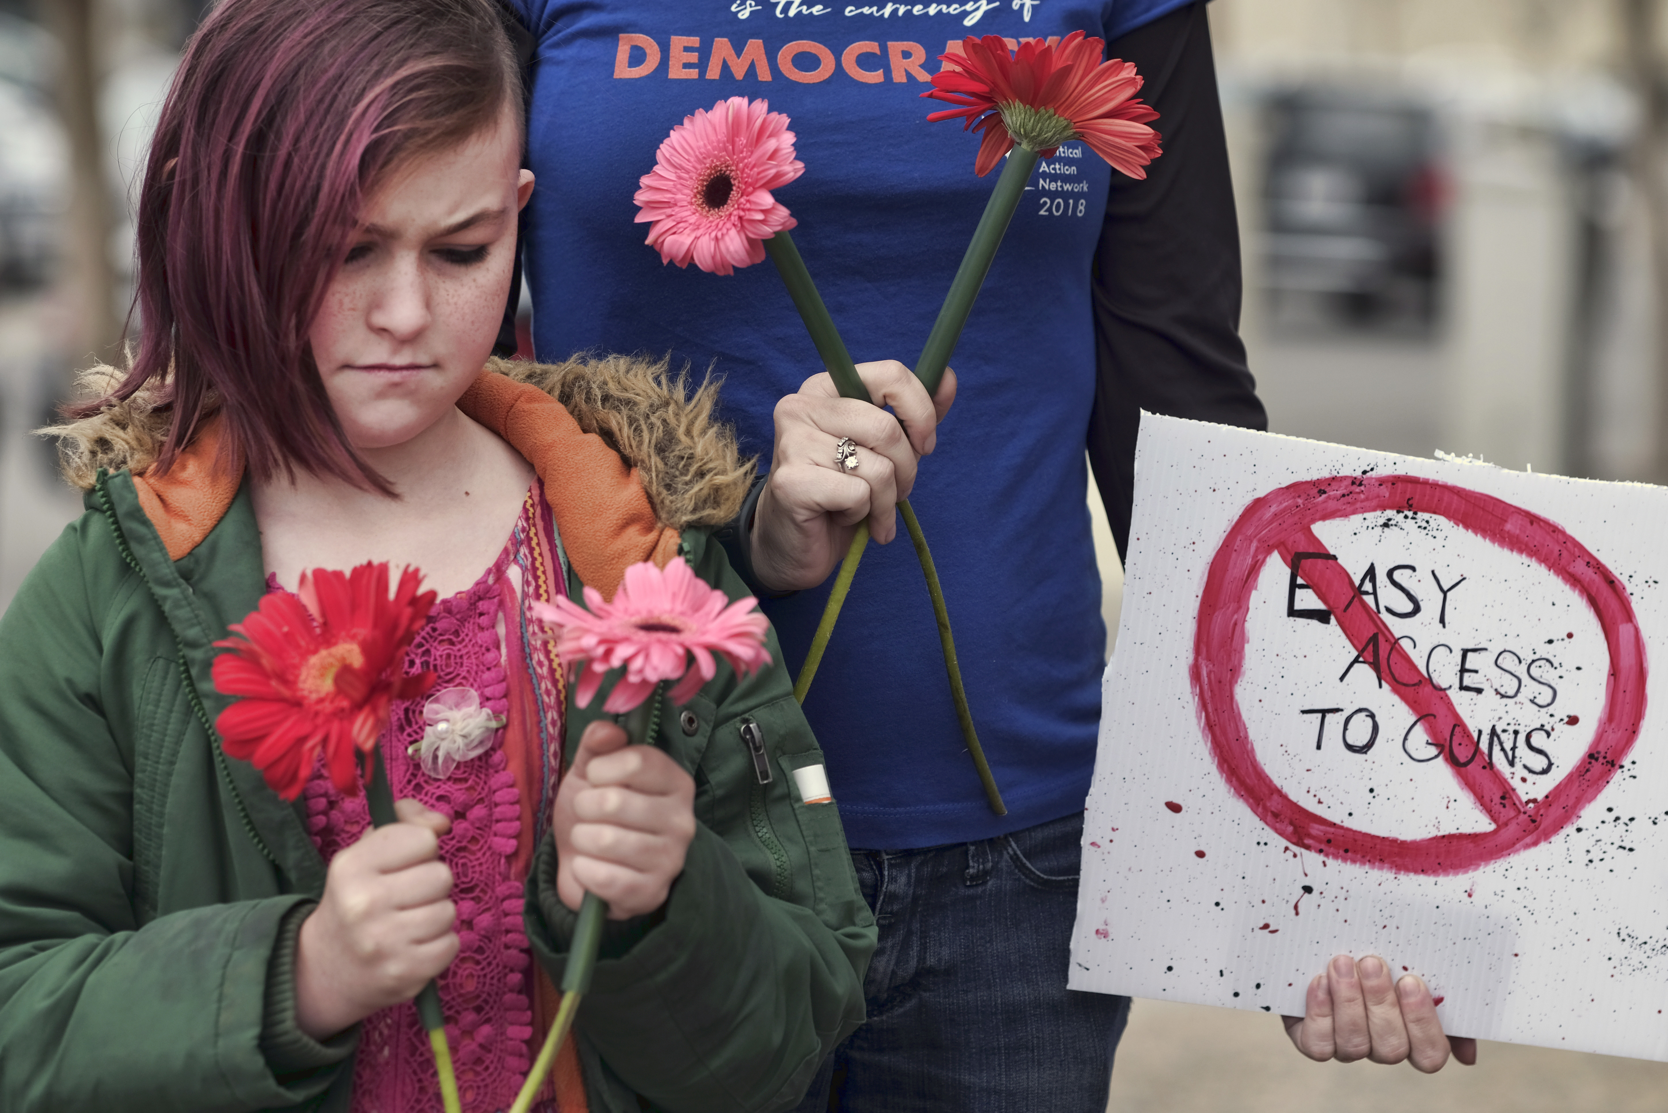
<svg viewBox="0 0 1668 1113"><path fill-rule="evenodd" d="M741 459L734 431L716 415L717 382L691 390L687 372L669 360L636 355L570 359L564 364L492 359L487 370L534 385L559 400L584 432L595 434L637 469L656 517L672 529L716 527L741 511L754 461ZM122 382L115 367L82 374L83 394L110 394ZM162 451L168 412L160 389L145 387L125 402L80 421L42 429L58 439L63 477L87 491L98 469L143 474Z"/></svg>

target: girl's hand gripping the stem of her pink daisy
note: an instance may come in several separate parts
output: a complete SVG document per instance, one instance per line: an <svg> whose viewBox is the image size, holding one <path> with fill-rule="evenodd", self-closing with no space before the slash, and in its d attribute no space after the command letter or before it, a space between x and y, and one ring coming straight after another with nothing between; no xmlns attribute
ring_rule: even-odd
<svg viewBox="0 0 1668 1113"><path fill-rule="evenodd" d="M696 781L654 746L627 746L592 723L555 793L555 893L579 911L585 891L631 919L666 903L696 838Z"/></svg>

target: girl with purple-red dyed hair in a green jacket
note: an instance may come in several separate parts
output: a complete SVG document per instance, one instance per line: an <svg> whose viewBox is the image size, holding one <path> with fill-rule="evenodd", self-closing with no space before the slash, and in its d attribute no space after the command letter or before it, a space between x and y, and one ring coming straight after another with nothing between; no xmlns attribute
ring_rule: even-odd
<svg viewBox="0 0 1668 1113"><path fill-rule="evenodd" d="M874 919L836 811L791 789L822 756L786 671L721 664L626 749L529 634L644 559L746 594L707 534L751 466L664 362L489 360L520 107L487 0L222 0L190 42L137 352L55 429L87 514L0 621L8 1113L439 1110L430 978L464 1108L502 1110L584 889L612 919L535 1108L791 1106L862 1020ZM227 626L365 561L440 594L375 831L210 726Z"/></svg>

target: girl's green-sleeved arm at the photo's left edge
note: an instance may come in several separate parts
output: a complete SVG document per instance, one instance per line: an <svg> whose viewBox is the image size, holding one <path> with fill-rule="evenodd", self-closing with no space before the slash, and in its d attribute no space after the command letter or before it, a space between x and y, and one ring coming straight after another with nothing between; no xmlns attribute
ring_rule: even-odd
<svg viewBox="0 0 1668 1113"><path fill-rule="evenodd" d="M294 1025L285 961L305 896L142 911L133 794L155 769L135 771L132 738L177 669L133 661L142 647L112 622L143 591L87 516L0 621L7 1113L284 1108L327 1090L354 1050L352 1033L319 1045Z"/></svg>

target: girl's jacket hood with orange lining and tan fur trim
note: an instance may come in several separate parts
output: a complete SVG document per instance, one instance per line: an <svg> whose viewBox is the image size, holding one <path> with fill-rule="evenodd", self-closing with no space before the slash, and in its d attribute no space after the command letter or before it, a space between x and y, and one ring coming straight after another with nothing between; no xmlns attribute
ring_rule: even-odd
<svg viewBox="0 0 1668 1113"><path fill-rule="evenodd" d="M93 369L90 390L108 390L118 372ZM98 471L125 471L170 559L215 529L242 486L235 454L222 452L219 417L167 472L153 462L168 414L158 392L140 390L92 417L42 432L58 437L63 472L92 487ZM565 364L490 360L459 409L507 441L544 481L557 531L580 581L610 597L626 567L666 566L689 527L736 516L752 482L736 437L714 414L717 385L689 392L667 360L607 355Z"/></svg>

